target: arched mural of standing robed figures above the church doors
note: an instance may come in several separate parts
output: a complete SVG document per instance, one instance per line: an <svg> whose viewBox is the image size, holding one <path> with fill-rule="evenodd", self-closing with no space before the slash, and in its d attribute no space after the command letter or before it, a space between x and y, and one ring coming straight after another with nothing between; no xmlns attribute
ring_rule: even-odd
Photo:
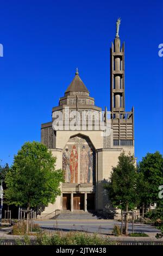
<svg viewBox="0 0 163 256"><path fill-rule="evenodd" d="M95 150L90 141L82 136L70 138L62 155L65 182L93 183L95 167Z"/></svg>

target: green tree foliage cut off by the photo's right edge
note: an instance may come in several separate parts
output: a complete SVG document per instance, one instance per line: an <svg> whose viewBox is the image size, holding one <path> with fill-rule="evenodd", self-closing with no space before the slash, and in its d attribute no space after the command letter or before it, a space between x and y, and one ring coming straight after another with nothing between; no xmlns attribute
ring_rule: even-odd
<svg viewBox="0 0 163 256"><path fill-rule="evenodd" d="M137 171L141 178L138 182L142 184L140 186L138 184L141 187L138 190L140 205L150 206L151 203L157 203L159 206L159 186L163 185L163 157L159 151L153 154L147 153L145 157L142 157Z"/></svg>

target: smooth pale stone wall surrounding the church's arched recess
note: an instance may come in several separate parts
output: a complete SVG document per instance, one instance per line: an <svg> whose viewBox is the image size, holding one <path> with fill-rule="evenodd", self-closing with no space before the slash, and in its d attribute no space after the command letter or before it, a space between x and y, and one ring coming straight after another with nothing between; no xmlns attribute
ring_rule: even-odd
<svg viewBox="0 0 163 256"><path fill-rule="evenodd" d="M66 143L70 139L71 136L74 135L84 135L87 136L90 141L92 142L93 146L96 149L96 210L103 210L108 203L108 196L105 194L104 191L104 183L110 177L112 167L117 165L118 156L120 156L122 150L126 151L128 154L134 154L134 147L112 147L108 149L103 148L103 137L101 136L101 131L57 131L57 140L56 145L57 149L50 149L52 151L53 156L57 157L56 162L56 169L62 169L62 149L65 148ZM112 133L111 133L112 134ZM112 143L111 143L112 145ZM76 188L71 187L62 187L61 184L61 191L64 193L76 191ZM93 188L84 188L81 187L80 191L84 192L91 192ZM62 210L62 194L61 196L57 197L54 204L49 204L45 210L42 212L41 217L50 218L54 216L55 210L57 213Z"/></svg>

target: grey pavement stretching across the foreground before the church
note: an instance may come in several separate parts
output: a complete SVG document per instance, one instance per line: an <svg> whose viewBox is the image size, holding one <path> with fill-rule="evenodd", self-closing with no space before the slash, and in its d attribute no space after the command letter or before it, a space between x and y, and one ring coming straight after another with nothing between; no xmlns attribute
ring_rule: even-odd
<svg viewBox="0 0 163 256"><path fill-rule="evenodd" d="M134 223L134 232L143 232L148 237L131 237L131 236L113 236L111 235L112 229L115 224L121 226L121 222L114 220L37 220L35 223L39 224L43 230L48 233L54 233L57 230L67 233L67 231L83 231L86 233L97 233L101 236L107 236L111 241L121 242L155 242L162 243L163 239L156 239L156 233L160 233L158 229L152 225ZM0 228L0 240L14 241L16 239L23 239L20 235L10 235L11 227ZM128 231L131 233L132 225L129 223ZM35 239L35 236L30 236L30 239Z"/></svg>

